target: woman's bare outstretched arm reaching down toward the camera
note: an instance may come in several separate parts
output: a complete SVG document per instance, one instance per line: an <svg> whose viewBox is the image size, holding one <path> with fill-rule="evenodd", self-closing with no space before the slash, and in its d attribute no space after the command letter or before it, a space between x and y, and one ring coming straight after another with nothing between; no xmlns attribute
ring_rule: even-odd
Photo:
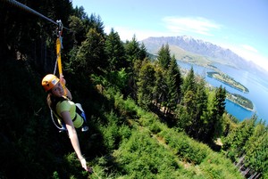
<svg viewBox="0 0 268 179"><path fill-rule="evenodd" d="M75 130L74 126L73 126L73 123L71 121L70 112L69 111L63 111L61 114L62 114L63 120L64 120L64 122L66 124L66 128L68 130L69 138L71 140L71 145L72 145L74 151L76 152L76 155L77 155L78 159L80 159L81 166L83 168L85 168L85 170L90 172L91 168L87 166L87 161L83 157L83 155L82 155L82 153L80 151L79 138L78 138L76 130Z"/></svg>

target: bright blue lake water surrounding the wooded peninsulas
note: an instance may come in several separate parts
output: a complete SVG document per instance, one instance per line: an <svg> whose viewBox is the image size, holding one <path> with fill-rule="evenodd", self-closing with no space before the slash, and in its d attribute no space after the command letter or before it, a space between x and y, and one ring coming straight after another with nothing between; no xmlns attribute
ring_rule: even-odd
<svg viewBox="0 0 268 179"><path fill-rule="evenodd" d="M245 118L251 118L252 115L256 114L259 119L268 121L268 81L265 80L267 77L259 77L255 73L250 73L241 69L233 69L222 64L214 64L215 67L220 69L223 73L228 74L233 77L240 84L245 85L249 90L248 94L244 94L239 90L230 87L230 85L225 85L222 82L212 78L207 77L206 72L214 71L213 69L208 69L202 66L189 64L181 61L177 61L178 65L182 69L190 69L193 67L194 72L202 77L205 77L205 81L215 87L222 85L225 89L232 94L240 94L247 99L249 99L254 104L254 111L245 110L238 104L226 100L225 109L239 120L244 120Z"/></svg>

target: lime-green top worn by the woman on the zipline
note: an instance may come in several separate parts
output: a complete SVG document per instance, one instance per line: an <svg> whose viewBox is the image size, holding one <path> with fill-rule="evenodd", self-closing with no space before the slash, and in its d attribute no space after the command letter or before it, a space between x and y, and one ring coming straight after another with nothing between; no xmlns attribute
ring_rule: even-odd
<svg viewBox="0 0 268 179"><path fill-rule="evenodd" d="M79 114L76 113L76 108L77 107L76 107L75 103L71 102L70 100L65 100L63 102L58 102L56 104L57 114L59 114L62 117L61 113L63 111L69 111L70 115L71 115L72 122L73 122L73 126L75 128L79 128L80 126L83 125L84 120L83 120L83 118L80 117ZM76 118L75 118L75 116L76 116ZM61 119L58 118L58 121L62 125Z"/></svg>

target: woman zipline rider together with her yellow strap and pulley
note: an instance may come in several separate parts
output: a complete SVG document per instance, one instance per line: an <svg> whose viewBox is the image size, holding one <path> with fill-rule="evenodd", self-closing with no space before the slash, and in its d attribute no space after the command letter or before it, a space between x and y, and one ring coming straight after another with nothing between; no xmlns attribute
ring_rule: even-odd
<svg viewBox="0 0 268 179"><path fill-rule="evenodd" d="M51 110L51 114L58 120L58 127L61 131L68 131L71 145L80 159L81 166L88 172L92 173L92 169L87 166L87 161L80 151L80 142L76 128L81 128L82 132L88 131L87 119L84 110L79 103L71 102L71 93L66 87L66 81L63 78L61 49L62 49L62 33L63 24L61 20L57 20L58 27L56 39L56 53L57 59L54 67L54 74L56 70L56 63L58 64L60 78L54 74L48 74L42 79L42 86L47 93L47 105ZM53 115L51 115L53 121ZM54 122L55 125L55 122ZM56 125L55 125L56 126Z"/></svg>

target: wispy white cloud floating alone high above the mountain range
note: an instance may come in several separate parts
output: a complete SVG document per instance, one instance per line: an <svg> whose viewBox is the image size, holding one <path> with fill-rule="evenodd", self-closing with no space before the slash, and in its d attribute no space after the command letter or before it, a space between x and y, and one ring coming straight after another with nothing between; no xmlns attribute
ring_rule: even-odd
<svg viewBox="0 0 268 179"><path fill-rule="evenodd" d="M214 29L222 28L222 25L216 24L211 20L202 17L164 17L163 22L166 28L179 34L196 33L204 36L214 36Z"/></svg>

